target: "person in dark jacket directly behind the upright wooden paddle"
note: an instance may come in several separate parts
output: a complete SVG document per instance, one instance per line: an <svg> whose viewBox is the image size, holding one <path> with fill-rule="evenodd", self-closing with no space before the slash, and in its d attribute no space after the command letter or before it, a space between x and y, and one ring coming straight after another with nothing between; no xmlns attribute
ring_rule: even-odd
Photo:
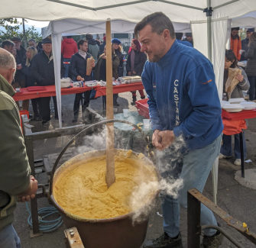
<svg viewBox="0 0 256 248"><path fill-rule="evenodd" d="M118 66L119 66L119 58L115 54L114 47L112 47L112 76L115 79L118 79ZM106 70L106 46L101 56L99 56L99 60L97 61L94 79L99 81L106 81L107 79L107 70ZM113 95L113 103L115 106L119 106L117 102L118 94ZM103 101L105 101L105 96L103 95Z"/></svg>

